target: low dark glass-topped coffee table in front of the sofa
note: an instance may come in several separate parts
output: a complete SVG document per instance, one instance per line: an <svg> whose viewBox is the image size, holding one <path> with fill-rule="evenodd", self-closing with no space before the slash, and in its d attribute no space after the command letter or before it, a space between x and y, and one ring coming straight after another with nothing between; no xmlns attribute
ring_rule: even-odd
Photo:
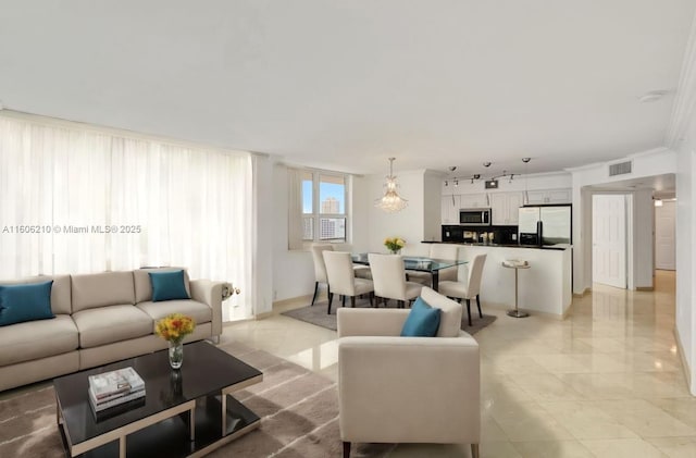
<svg viewBox="0 0 696 458"><path fill-rule="evenodd" d="M87 377L132 367L146 396L100 412L87 395ZM72 457L203 456L260 425L259 417L231 393L263 374L206 342L184 346L184 366L170 368L167 350L58 377L57 419Z"/></svg>

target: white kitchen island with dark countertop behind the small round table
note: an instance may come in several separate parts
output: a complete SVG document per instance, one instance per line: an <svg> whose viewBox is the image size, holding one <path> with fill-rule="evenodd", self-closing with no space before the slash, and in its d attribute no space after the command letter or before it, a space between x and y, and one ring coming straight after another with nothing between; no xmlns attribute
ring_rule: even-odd
<svg viewBox="0 0 696 458"><path fill-rule="evenodd" d="M422 245L433 242L424 242ZM572 246L518 246L485 244L450 244L459 247L459 258L471 260L485 253L481 280L482 304L510 308L514 304L514 273L502 261L527 261L530 269L520 272L519 307L527 312L542 312L563 318L572 302Z"/></svg>

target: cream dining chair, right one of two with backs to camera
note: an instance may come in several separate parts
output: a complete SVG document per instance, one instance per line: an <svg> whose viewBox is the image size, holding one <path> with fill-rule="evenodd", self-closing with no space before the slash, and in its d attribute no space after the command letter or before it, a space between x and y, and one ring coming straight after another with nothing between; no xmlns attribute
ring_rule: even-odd
<svg viewBox="0 0 696 458"><path fill-rule="evenodd" d="M374 282L374 295L386 300L395 299L398 307L403 308L408 301L409 307L420 294L423 285L406 281L403 258L400 255L368 255L372 281ZM378 301L377 301L378 305Z"/></svg>

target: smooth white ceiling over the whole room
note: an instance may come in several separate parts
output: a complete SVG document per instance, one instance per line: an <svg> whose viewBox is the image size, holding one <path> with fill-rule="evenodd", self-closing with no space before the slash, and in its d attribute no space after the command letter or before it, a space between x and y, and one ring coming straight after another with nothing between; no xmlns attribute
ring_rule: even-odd
<svg viewBox="0 0 696 458"><path fill-rule="evenodd" d="M664 144L694 7L0 0L0 100L348 172L557 171Z"/></svg>

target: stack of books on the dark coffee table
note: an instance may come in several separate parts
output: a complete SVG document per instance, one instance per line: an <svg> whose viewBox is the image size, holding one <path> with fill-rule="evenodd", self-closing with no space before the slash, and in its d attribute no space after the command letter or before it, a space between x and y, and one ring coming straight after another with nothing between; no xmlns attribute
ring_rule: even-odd
<svg viewBox="0 0 696 458"><path fill-rule="evenodd" d="M89 404L96 414L145 398L145 382L133 368L89 376Z"/></svg>

